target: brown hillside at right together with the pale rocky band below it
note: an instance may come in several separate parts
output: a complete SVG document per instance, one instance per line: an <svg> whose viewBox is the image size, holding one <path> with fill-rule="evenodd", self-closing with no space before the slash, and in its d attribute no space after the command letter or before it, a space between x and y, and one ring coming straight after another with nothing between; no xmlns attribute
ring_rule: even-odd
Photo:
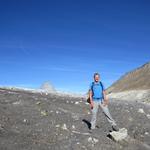
<svg viewBox="0 0 150 150"><path fill-rule="evenodd" d="M108 89L110 98L150 103L150 62L126 73Z"/></svg>

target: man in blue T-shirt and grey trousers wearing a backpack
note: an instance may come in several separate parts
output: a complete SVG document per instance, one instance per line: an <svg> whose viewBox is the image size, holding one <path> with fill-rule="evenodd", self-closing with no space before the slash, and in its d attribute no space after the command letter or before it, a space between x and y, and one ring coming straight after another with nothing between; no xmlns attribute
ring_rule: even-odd
<svg viewBox="0 0 150 150"><path fill-rule="evenodd" d="M106 97L105 88L102 82L100 81L99 73L94 74L94 82L92 82L90 85L89 97L90 97L90 107L92 110L91 129L95 129L98 107L100 106L107 120L112 125L112 129L118 131L119 128L117 127L117 124L112 118L108 109L109 101Z"/></svg>

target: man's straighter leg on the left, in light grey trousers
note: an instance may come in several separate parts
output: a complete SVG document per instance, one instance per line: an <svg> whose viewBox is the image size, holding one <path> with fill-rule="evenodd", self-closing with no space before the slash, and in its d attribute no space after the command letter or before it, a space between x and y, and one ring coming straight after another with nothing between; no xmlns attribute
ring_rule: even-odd
<svg viewBox="0 0 150 150"><path fill-rule="evenodd" d="M92 109L91 129L95 129L97 111L98 111L98 102L94 101L94 107Z"/></svg>

